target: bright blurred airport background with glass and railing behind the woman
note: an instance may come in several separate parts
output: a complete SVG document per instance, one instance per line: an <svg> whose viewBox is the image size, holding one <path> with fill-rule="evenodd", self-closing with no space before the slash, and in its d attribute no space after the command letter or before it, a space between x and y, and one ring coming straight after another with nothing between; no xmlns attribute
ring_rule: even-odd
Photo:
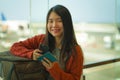
<svg viewBox="0 0 120 80"><path fill-rule="evenodd" d="M120 0L0 0L0 52L44 34L47 11L57 4L72 14L85 58L81 80L120 80Z"/></svg>

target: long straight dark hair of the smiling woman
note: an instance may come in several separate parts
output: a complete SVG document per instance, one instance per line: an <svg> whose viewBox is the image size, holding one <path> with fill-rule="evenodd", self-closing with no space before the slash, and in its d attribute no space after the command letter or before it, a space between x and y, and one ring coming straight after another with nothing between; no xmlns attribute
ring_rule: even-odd
<svg viewBox="0 0 120 80"><path fill-rule="evenodd" d="M62 5L56 5L48 11L46 18L45 43L49 46L50 51L55 49L55 39L47 30L48 19L51 12L55 12L62 19L64 34L61 42L62 47L60 51L60 62L65 64L71 56L72 51L75 50L75 45L77 45L71 14L69 10Z"/></svg>

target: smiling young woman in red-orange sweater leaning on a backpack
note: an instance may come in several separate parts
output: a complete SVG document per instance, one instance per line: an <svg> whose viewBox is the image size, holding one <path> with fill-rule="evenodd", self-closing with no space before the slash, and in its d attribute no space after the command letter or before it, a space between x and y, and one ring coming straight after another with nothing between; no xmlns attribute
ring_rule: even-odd
<svg viewBox="0 0 120 80"><path fill-rule="evenodd" d="M46 19L46 34L36 35L25 41L16 42L11 53L16 56L37 60L42 56L40 44L49 47L57 59L51 62L48 58L41 61L49 72L48 80L80 80L83 70L83 52L78 45L73 29L71 14L62 5L52 7Z"/></svg>

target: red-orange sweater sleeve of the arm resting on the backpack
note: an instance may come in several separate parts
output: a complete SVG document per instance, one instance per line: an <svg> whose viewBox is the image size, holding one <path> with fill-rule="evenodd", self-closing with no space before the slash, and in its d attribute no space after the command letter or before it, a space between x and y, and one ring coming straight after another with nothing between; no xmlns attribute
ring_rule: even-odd
<svg viewBox="0 0 120 80"><path fill-rule="evenodd" d="M36 35L32 38L28 38L24 41L14 43L10 52L16 56L32 58L32 53L38 48L40 42L42 42L44 35Z"/></svg>

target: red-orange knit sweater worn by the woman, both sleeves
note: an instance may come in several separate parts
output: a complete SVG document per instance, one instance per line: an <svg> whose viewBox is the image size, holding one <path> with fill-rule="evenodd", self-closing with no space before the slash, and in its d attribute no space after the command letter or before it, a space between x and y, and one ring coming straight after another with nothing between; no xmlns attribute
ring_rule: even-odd
<svg viewBox="0 0 120 80"><path fill-rule="evenodd" d="M32 58L32 53L38 48L44 40L45 35L36 35L25 41L16 42L12 45L10 51L16 56ZM83 70L83 53L79 45L76 46L76 58L70 57L66 64L66 72L63 71L58 63L49 69L49 73L54 80L80 80Z"/></svg>

